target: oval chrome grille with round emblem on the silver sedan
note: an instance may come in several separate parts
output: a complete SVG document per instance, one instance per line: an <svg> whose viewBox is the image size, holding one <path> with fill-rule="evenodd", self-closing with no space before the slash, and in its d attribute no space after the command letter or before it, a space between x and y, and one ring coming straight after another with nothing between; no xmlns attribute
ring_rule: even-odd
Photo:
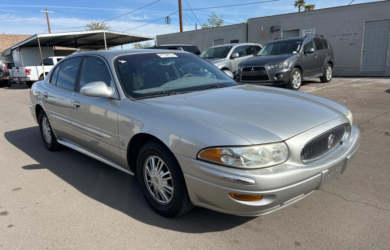
<svg viewBox="0 0 390 250"><path fill-rule="evenodd" d="M347 138L347 124L335 127L311 139L301 150L301 160L305 164L321 160L337 150ZM333 138L331 143L331 139Z"/></svg>

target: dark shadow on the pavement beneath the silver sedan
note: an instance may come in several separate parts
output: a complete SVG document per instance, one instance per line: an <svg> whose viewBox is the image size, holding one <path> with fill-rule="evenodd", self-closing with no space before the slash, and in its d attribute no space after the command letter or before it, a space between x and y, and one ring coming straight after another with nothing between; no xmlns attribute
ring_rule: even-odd
<svg viewBox="0 0 390 250"><path fill-rule="evenodd" d="M42 143L38 127L5 132L5 139L39 164L26 171L48 169L82 194L149 225L187 233L225 231L254 217L240 217L195 207L178 218L155 213L142 196L137 178L70 148L51 152Z"/></svg>

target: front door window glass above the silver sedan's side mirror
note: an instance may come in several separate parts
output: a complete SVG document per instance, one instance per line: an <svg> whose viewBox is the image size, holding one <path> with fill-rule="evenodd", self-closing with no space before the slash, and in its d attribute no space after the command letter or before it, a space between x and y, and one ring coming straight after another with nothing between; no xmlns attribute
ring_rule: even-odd
<svg viewBox="0 0 390 250"><path fill-rule="evenodd" d="M80 88L87 83L99 81L110 87L112 85L111 72L103 59L96 56L87 56L80 74Z"/></svg>

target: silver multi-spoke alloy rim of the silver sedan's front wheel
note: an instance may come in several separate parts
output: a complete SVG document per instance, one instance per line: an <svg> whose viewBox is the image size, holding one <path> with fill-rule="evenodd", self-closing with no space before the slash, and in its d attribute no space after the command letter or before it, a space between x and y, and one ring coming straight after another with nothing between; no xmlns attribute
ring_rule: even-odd
<svg viewBox="0 0 390 250"><path fill-rule="evenodd" d="M144 163L144 180L149 194L160 204L168 204L173 198L173 180L168 166L160 157L150 156Z"/></svg>

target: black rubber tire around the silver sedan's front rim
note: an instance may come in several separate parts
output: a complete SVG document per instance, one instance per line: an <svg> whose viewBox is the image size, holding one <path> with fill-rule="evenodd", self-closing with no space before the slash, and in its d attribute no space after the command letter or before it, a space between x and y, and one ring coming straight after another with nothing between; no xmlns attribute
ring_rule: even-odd
<svg viewBox="0 0 390 250"><path fill-rule="evenodd" d="M167 167L167 170L170 172L168 176L172 178L170 181L172 184L171 187L173 187L173 191L172 195L170 196L170 200L167 201L166 204L161 204L161 202L158 202L152 196L151 191L149 191L149 188L146 184L147 181L151 182L151 188L153 188L155 184L157 186L158 183L160 183L161 185L160 179L154 178L154 182L152 182L150 180L147 180L148 177L145 177L146 174L144 174L144 165L146 164L146 161L151 157L160 158L165 164L163 165L163 168ZM156 171L153 172L157 173ZM161 173L161 171L159 173ZM148 141L142 146L137 157L137 177L138 182L141 186L142 194L144 195L147 203L154 211L156 211L156 213L168 218L172 218L183 215L184 213L187 213L193 208L193 204L188 195L183 171L181 171L181 167L173 153L164 144L152 140ZM159 194L159 196L162 199L162 195Z"/></svg>

